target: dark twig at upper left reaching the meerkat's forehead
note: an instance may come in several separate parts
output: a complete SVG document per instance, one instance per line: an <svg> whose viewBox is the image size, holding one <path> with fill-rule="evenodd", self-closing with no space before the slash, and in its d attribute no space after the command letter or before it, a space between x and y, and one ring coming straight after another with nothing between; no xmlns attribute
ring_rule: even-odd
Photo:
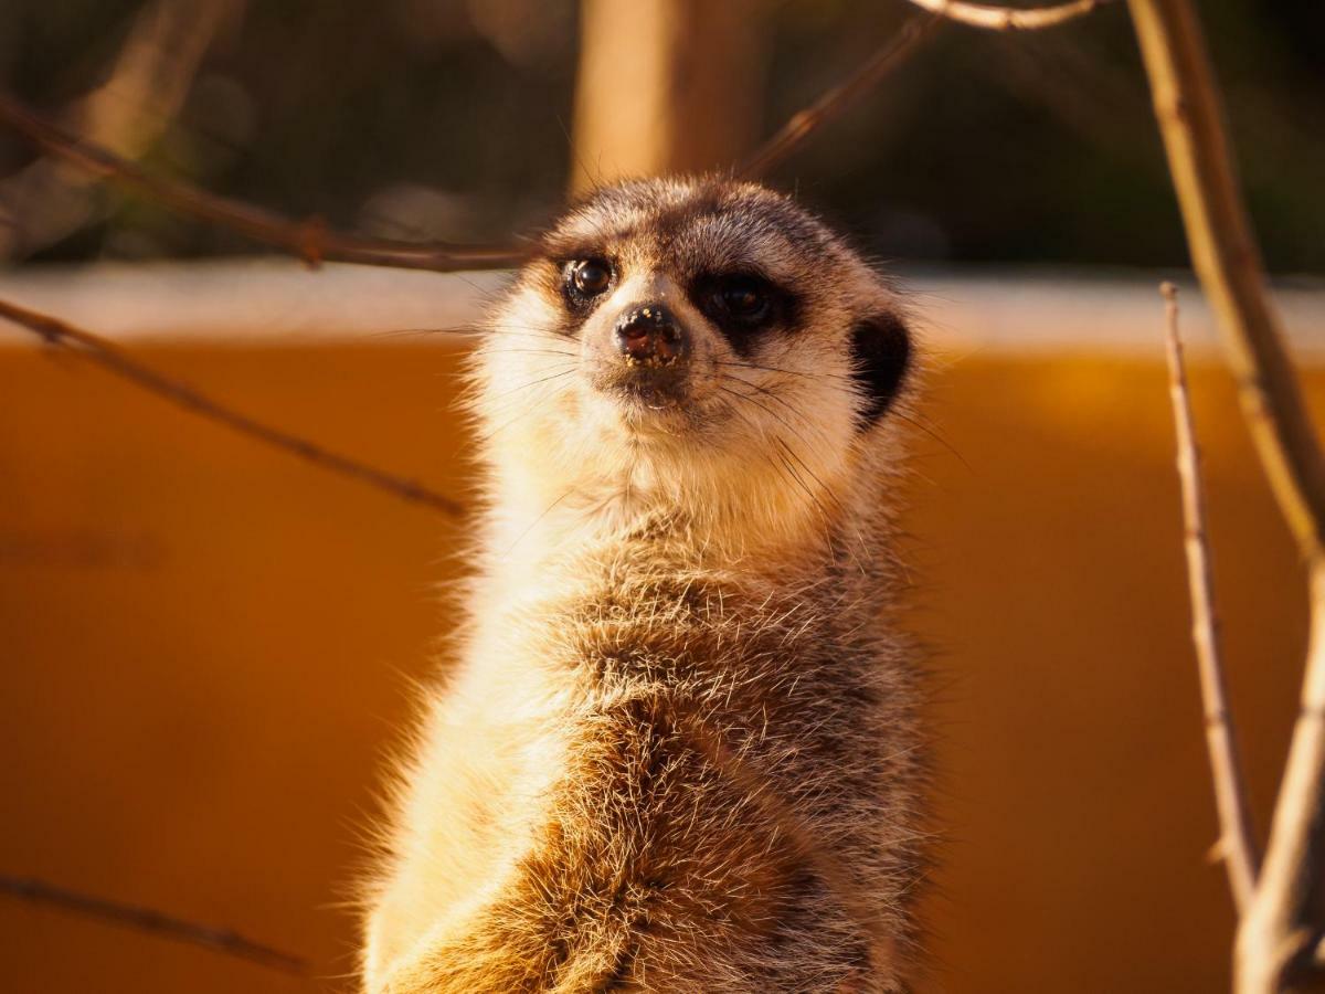
<svg viewBox="0 0 1325 994"><path fill-rule="evenodd" d="M254 241L295 254L310 265L326 260L450 273L504 269L519 265L529 254L511 247L359 239L331 231L317 217L295 221L274 211L229 200L188 183L154 176L140 166L46 121L7 93L0 93L0 123L8 125L52 155L95 176L146 193L178 213L228 228Z"/></svg>

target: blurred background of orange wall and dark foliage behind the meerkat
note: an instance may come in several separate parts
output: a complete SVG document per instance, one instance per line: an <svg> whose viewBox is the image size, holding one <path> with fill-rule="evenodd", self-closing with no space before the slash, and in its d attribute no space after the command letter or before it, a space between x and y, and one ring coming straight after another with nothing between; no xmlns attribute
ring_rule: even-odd
<svg viewBox="0 0 1325 994"><path fill-rule="evenodd" d="M1203 0L1325 412L1325 5ZM568 193L727 167L901 0L0 0L0 86L163 176L366 235L509 243ZM1261 828L1302 582L1212 347L1121 4L946 27L771 182L885 260L933 370L913 624L945 836L926 990L1216 991L1232 929L1187 639L1155 286L1186 286ZM0 130L0 298L464 498L462 329L501 273L311 272ZM0 875L306 956L309 979L0 895L15 991L351 990L344 900L464 529L0 323Z"/></svg>

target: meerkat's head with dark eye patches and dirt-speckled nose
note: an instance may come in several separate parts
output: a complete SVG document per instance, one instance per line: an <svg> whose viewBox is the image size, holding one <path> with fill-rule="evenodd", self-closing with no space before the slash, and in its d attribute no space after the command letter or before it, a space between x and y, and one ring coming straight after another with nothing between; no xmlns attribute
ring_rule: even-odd
<svg viewBox="0 0 1325 994"><path fill-rule="evenodd" d="M514 529L670 516L747 550L880 497L910 335L881 276L786 196L712 178L600 190L488 330L474 410Z"/></svg>

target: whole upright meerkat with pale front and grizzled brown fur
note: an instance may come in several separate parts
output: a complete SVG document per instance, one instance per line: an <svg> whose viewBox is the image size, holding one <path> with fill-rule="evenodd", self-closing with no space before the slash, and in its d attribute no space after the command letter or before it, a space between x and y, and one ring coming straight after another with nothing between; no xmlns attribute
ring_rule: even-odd
<svg viewBox="0 0 1325 994"><path fill-rule="evenodd" d="M912 364L886 281L762 187L627 183L542 240L473 359L468 622L368 991L908 989Z"/></svg>

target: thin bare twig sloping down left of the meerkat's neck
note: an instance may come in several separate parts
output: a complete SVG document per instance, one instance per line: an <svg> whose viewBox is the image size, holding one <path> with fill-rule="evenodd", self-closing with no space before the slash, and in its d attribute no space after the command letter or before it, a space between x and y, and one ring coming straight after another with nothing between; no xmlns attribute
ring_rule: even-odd
<svg viewBox="0 0 1325 994"><path fill-rule="evenodd" d="M376 486L379 490L386 490L415 504L423 504L444 514L454 517L462 512L460 504L450 497L429 490L415 480L407 480L348 456L331 452L307 439L292 435L281 428L273 428L219 400L213 400L188 384L142 364L125 350L81 327L74 327L48 314L40 314L3 300L0 300L0 318L5 318L32 331L50 345L70 349L74 354L101 366L121 379L170 400L176 407L224 424L232 431L250 439L257 439L273 448L293 453L322 469L359 480L360 482Z"/></svg>

